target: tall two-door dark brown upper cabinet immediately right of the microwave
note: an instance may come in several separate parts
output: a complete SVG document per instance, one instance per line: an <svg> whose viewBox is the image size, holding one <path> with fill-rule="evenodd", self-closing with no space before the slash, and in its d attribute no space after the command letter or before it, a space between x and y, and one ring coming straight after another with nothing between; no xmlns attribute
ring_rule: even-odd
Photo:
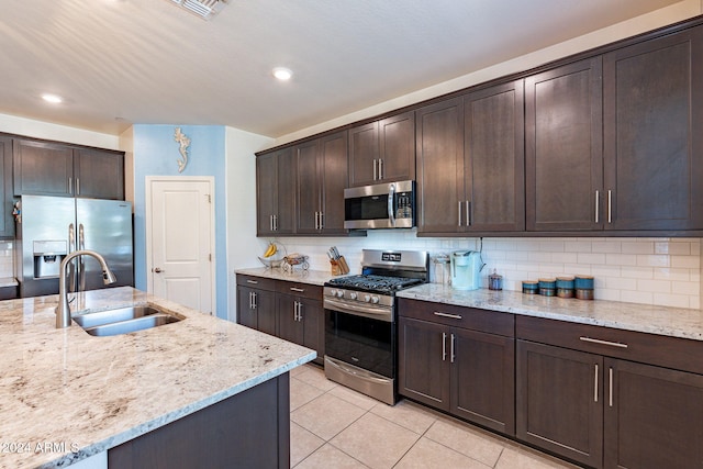
<svg viewBox="0 0 703 469"><path fill-rule="evenodd" d="M419 234L524 230L523 105L517 80L417 111Z"/></svg>

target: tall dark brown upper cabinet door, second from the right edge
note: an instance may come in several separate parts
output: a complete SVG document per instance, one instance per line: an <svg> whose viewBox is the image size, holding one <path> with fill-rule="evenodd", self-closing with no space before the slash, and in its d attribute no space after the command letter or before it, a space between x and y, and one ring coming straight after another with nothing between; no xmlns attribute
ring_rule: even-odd
<svg viewBox="0 0 703 469"><path fill-rule="evenodd" d="M525 79L528 231L602 230L601 58Z"/></svg>

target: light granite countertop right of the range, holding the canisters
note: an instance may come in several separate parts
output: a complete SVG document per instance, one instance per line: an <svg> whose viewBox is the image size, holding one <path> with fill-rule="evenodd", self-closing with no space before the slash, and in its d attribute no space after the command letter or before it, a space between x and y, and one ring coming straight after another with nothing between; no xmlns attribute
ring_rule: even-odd
<svg viewBox="0 0 703 469"><path fill-rule="evenodd" d="M460 291L436 283L403 290L398 297L703 340L701 310L561 299L505 290Z"/></svg>

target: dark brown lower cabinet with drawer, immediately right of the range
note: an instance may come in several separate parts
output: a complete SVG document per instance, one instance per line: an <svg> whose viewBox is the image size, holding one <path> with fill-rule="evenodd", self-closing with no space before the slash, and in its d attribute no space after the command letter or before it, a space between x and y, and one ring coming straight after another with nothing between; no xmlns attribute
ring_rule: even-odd
<svg viewBox="0 0 703 469"><path fill-rule="evenodd" d="M447 305L438 310L437 304L404 299L400 304L398 392L514 435L515 340L493 333L512 333L512 315Z"/></svg>

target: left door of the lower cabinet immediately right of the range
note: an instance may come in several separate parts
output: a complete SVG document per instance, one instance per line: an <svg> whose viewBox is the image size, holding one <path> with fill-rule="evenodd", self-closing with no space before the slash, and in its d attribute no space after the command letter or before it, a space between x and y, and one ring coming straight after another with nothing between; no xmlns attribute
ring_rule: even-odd
<svg viewBox="0 0 703 469"><path fill-rule="evenodd" d="M449 328L408 317L398 326L398 392L448 411Z"/></svg>

